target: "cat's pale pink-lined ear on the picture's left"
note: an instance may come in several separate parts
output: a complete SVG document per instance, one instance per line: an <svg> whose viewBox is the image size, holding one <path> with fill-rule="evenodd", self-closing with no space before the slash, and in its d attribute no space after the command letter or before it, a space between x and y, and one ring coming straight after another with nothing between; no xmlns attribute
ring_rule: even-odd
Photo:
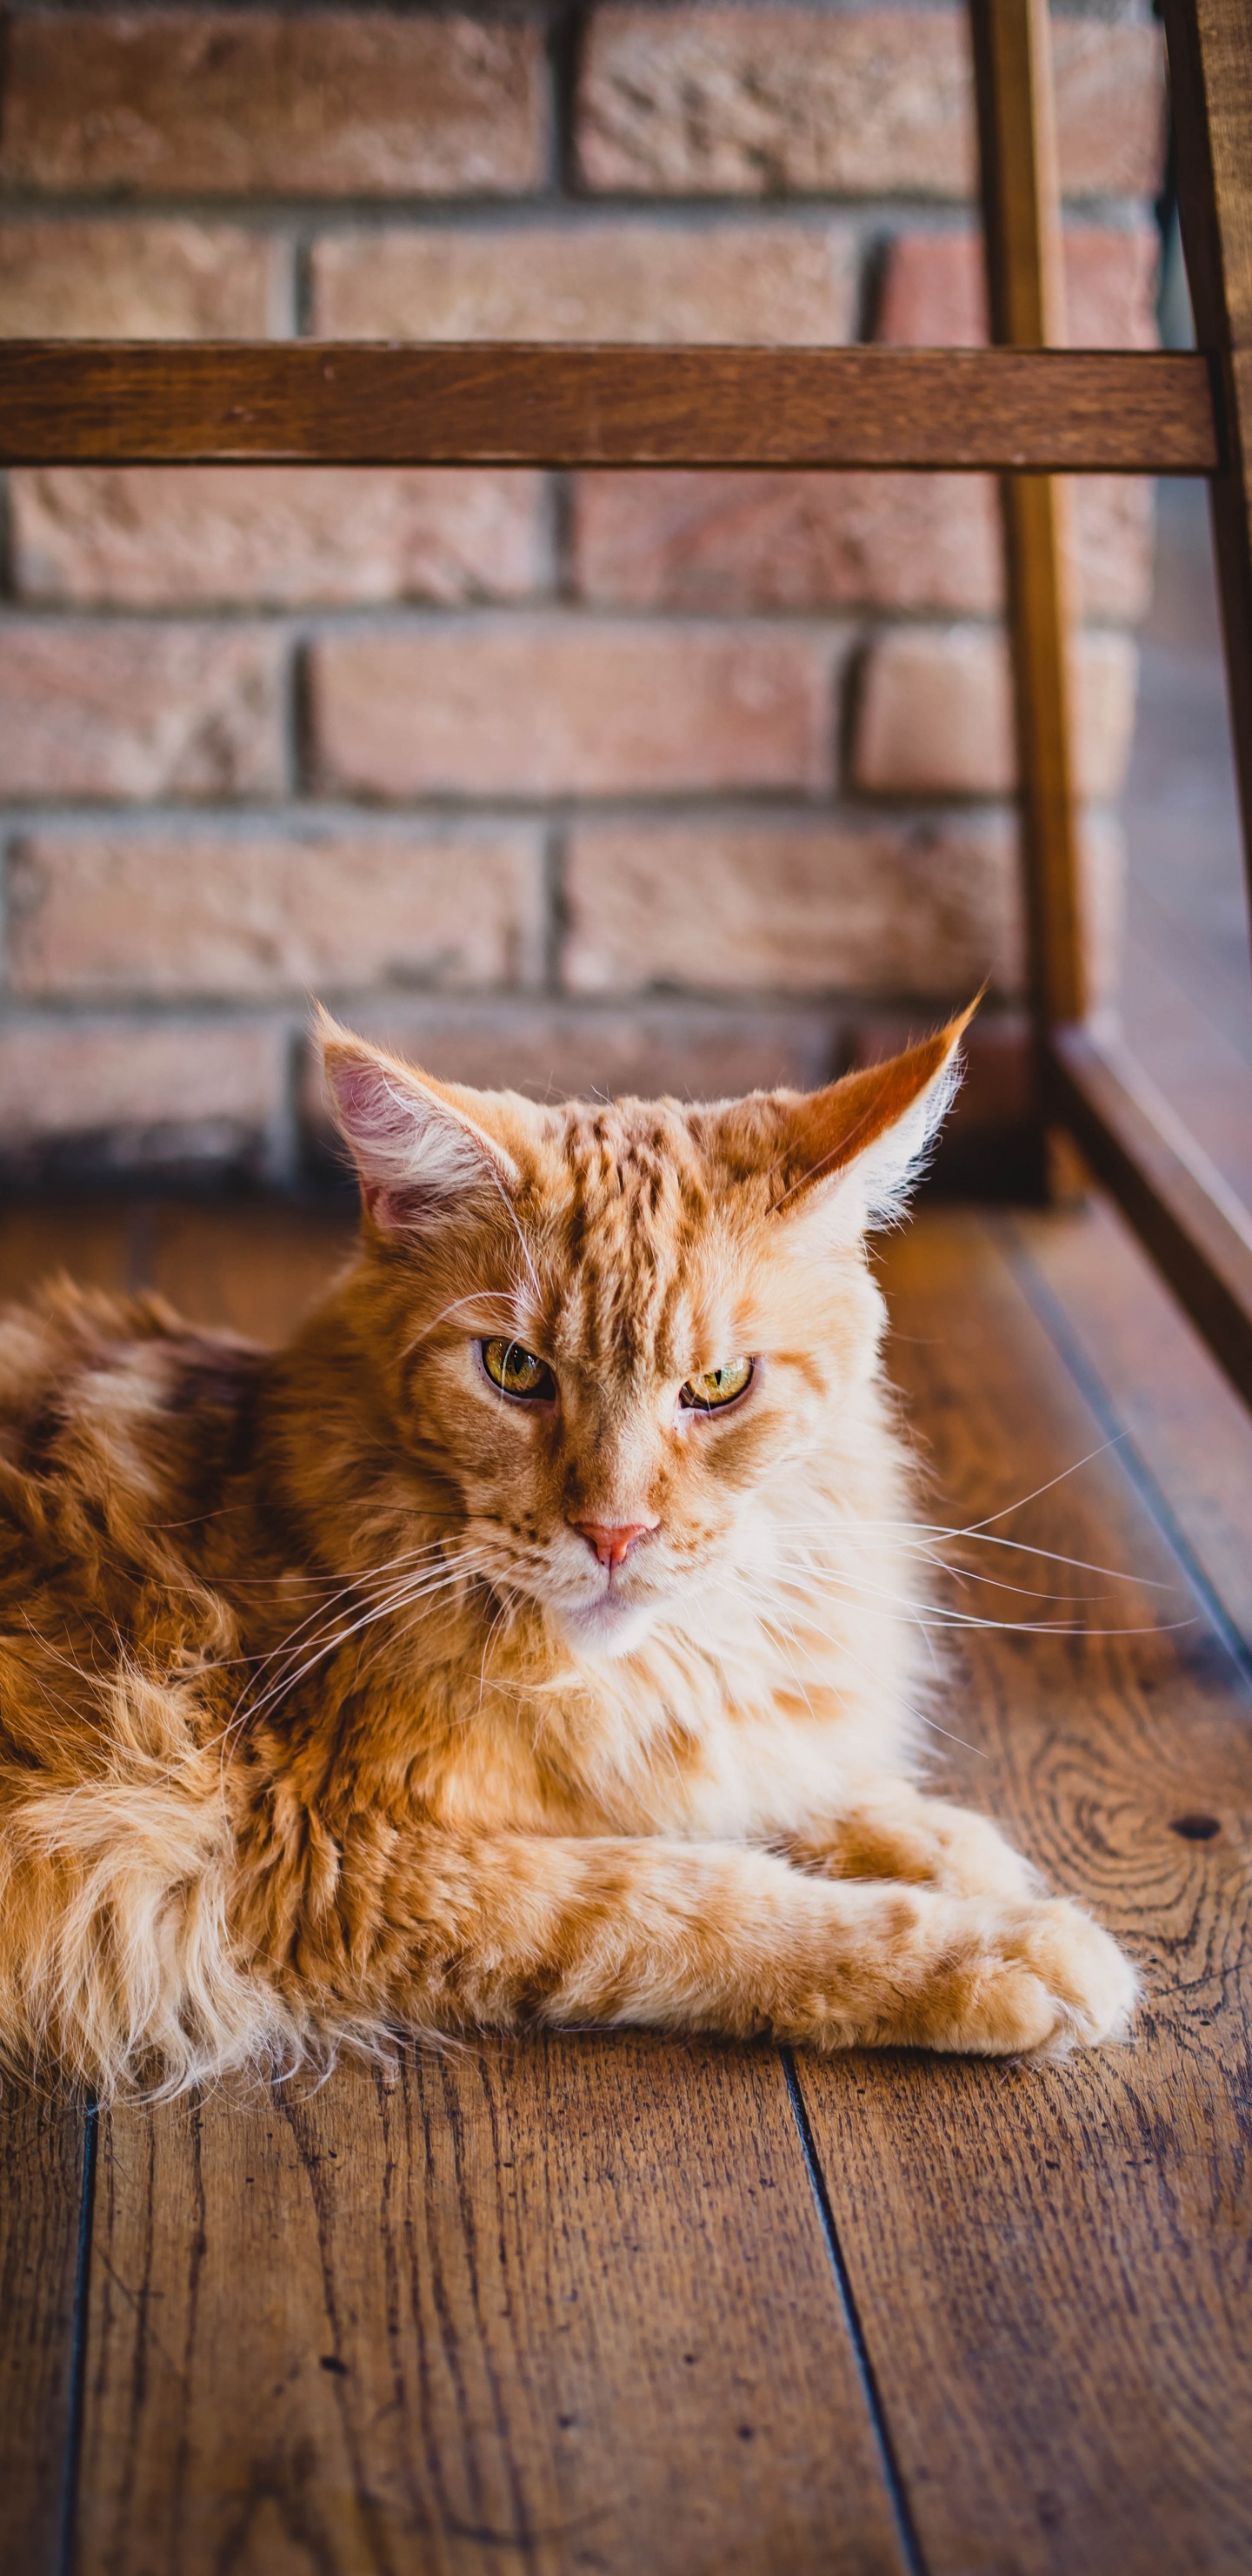
<svg viewBox="0 0 1252 2576"><path fill-rule="evenodd" d="M335 1126L356 1162L366 1221L415 1234L474 1200L487 1213L518 1185L518 1164L461 1103L412 1064L353 1038L319 1012L317 1043Z"/></svg>

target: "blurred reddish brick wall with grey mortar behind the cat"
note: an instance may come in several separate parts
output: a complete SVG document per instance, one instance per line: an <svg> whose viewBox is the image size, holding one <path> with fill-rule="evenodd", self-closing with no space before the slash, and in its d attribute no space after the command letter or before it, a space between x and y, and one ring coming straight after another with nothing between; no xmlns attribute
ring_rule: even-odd
<svg viewBox="0 0 1252 2576"><path fill-rule="evenodd" d="M1152 340L1162 54L1056 18L1072 337ZM15 8L0 330L976 340L958 13ZM1077 492L1092 940L1149 495ZM307 994L466 1079L822 1079L1020 994L961 477L21 471L10 1167L319 1149Z"/></svg>

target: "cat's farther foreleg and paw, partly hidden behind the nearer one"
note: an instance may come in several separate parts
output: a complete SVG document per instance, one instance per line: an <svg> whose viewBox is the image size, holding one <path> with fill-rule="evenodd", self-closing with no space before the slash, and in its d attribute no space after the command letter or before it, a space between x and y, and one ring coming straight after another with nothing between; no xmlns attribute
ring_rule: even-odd
<svg viewBox="0 0 1252 2576"><path fill-rule="evenodd" d="M1041 1878L989 1816L925 1798L912 1780L871 1780L840 1814L786 1834L783 1857L824 1878L902 1878L958 1896L1036 1896Z"/></svg>

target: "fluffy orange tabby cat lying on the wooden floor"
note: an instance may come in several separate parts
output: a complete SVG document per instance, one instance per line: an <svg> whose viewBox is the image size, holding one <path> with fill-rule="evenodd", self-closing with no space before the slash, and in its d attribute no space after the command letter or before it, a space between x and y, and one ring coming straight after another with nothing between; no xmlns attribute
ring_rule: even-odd
<svg viewBox="0 0 1252 2576"><path fill-rule="evenodd" d="M909 1783L863 1234L961 1028L814 1095L533 1108L325 1023L363 1242L286 1350L5 1316L8 2063L1126 2027L1108 1935Z"/></svg>

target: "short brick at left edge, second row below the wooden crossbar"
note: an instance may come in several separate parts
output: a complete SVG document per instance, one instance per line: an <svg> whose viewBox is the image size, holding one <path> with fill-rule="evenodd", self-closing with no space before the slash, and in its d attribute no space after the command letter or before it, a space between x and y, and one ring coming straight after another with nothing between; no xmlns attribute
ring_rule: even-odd
<svg viewBox="0 0 1252 2576"><path fill-rule="evenodd" d="M258 629L0 629L3 796L278 796L283 641Z"/></svg>

